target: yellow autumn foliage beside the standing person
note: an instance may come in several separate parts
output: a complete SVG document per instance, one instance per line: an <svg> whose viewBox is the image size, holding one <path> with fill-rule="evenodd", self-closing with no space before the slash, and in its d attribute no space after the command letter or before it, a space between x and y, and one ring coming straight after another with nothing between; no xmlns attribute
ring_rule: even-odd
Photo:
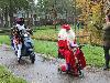
<svg viewBox="0 0 110 83"><path fill-rule="evenodd" d="M101 44L105 2L102 0L77 0L77 7L81 9L79 19L85 22L84 31L91 34L91 43Z"/></svg>

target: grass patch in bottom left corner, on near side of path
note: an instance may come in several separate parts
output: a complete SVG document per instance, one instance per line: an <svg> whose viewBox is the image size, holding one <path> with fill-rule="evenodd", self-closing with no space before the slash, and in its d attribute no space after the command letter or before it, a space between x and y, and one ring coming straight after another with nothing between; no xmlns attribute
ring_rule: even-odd
<svg viewBox="0 0 110 83"><path fill-rule="evenodd" d="M0 65L0 83L26 83L26 81L15 77L8 69Z"/></svg>

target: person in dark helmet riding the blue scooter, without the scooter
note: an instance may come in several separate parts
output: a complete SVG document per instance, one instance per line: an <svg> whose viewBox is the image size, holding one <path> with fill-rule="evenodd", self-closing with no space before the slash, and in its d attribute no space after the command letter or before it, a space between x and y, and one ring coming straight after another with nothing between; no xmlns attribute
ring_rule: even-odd
<svg viewBox="0 0 110 83"><path fill-rule="evenodd" d="M16 24L14 27L14 34L13 34L13 43L14 43L14 50L15 54L18 55L18 61L20 61L21 56L21 49L23 44L23 39L22 35L25 32L25 27L24 27L24 19L23 18L18 18L16 19Z"/></svg>

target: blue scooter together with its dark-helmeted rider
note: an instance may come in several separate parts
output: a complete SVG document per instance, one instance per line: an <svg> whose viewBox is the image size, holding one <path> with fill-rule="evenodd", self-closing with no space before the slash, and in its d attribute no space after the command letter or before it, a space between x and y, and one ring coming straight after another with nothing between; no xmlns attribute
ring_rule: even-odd
<svg viewBox="0 0 110 83"><path fill-rule="evenodd" d="M31 33L24 27L23 18L16 19L16 25L11 29L11 40L14 44L15 55L18 56L18 62L20 63L22 56L30 56L32 63L35 61L34 45L31 39Z"/></svg>

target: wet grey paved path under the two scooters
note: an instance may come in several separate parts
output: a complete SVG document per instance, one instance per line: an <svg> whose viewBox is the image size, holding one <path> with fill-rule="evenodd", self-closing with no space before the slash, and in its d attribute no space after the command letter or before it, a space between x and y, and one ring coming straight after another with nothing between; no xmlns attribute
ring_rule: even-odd
<svg viewBox="0 0 110 83"><path fill-rule="evenodd" d="M23 58L21 64L18 64L14 53L3 51L0 48L0 64L6 65L15 75L25 79L29 83L110 83L110 71L101 71L92 68L85 69L85 77L77 79L67 74L57 72L56 60L44 60L36 54L36 61L31 64L28 58Z"/></svg>

